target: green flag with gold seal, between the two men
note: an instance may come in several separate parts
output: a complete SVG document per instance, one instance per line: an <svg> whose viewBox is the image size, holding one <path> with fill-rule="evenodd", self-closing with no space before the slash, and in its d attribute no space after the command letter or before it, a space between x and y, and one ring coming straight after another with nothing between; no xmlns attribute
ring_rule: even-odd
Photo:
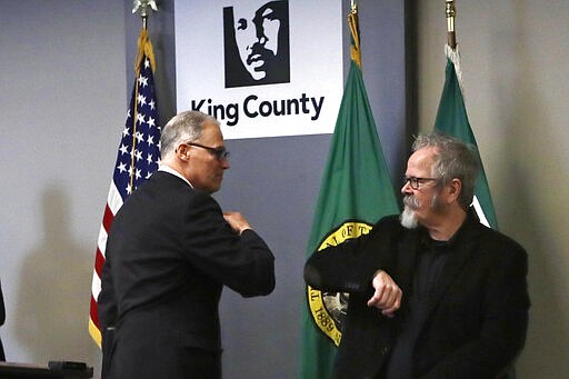
<svg viewBox="0 0 569 379"><path fill-rule="evenodd" d="M358 64L357 20L350 20L350 28L356 47L320 187L308 256L367 233L381 217L399 212ZM321 292L307 286L301 378L331 377L348 298L347 293Z"/></svg>

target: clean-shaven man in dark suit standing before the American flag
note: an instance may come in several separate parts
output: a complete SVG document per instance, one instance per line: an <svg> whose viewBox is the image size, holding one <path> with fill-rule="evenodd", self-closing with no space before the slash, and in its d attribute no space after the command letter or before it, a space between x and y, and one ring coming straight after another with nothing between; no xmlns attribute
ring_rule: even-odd
<svg viewBox="0 0 569 379"><path fill-rule="evenodd" d="M229 168L219 122L182 112L160 143L159 170L127 198L109 232L102 377L221 378L222 287L270 293L274 258L239 212L223 213L211 197Z"/></svg>

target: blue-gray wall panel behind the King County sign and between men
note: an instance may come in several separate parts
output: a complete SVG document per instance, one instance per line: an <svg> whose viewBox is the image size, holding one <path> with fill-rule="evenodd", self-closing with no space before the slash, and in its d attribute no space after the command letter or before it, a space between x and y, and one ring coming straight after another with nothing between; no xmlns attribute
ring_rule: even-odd
<svg viewBox="0 0 569 379"><path fill-rule="evenodd" d="M126 0L127 88L140 19ZM196 1L196 9L199 10ZM406 79L405 1L358 1L363 79L386 159L400 178L410 124ZM161 1L149 30L157 56L156 83L161 119L176 112L173 0ZM349 1L342 3L348 14ZM343 18L346 19L346 18ZM349 31L343 26L345 72L349 68ZM130 96L130 92L128 93ZM181 110L179 110L181 111ZM331 134L229 140L231 169L216 196L226 210L239 210L272 248L277 288L266 298L242 299L223 292L221 322L226 378L297 378L305 305L302 267L320 179ZM397 181L395 183L398 184Z"/></svg>

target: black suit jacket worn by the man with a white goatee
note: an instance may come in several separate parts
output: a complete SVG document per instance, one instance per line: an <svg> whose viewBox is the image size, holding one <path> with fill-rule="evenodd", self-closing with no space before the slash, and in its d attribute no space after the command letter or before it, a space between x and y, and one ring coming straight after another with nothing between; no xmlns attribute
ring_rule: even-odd
<svg viewBox="0 0 569 379"><path fill-rule="evenodd" d="M348 320L336 378L381 378L400 317L368 308L376 270L402 289L398 313L407 311L422 228L409 230L398 217L371 232L315 253L305 268L310 286L350 292ZM452 251L428 306L412 352L413 378L496 378L523 346L528 323L526 251L469 215L452 239Z"/></svg>

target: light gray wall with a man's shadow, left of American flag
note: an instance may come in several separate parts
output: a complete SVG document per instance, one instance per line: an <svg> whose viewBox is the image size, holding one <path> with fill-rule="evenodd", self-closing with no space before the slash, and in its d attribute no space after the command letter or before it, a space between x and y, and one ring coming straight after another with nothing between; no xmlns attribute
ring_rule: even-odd
<svg viewBox="0 0 569 379"><path fill-rule="evenodd" d="M0 1L0 279L7 358L98 367L96 239L127 109L116 0Z"/></svg>

